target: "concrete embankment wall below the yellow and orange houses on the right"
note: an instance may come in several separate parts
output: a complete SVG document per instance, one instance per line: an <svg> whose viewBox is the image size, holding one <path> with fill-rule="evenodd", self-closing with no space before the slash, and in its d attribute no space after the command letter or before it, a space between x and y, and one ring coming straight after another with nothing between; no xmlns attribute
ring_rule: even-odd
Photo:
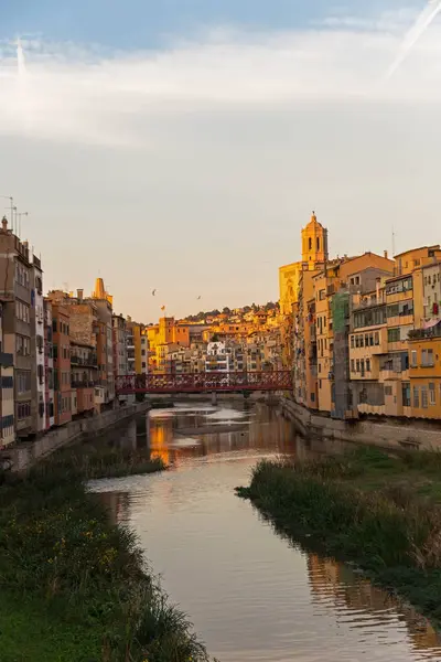
<svg viewBox="0 0 441 662"><path fill-rule="evenodd" d="M310 412L289 398L280 398L280 405L303 436L315 435L380 448L441 449L441 426L434 424L394 418L345 421Z"/></svg>

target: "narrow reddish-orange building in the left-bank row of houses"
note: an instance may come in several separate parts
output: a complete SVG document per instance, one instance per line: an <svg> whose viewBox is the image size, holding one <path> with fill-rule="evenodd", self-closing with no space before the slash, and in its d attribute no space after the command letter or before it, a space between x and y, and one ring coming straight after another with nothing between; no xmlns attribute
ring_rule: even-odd
<svg viewBox="0 0 441 662"><path fill-rule="evenodd" d="M52 306L55 425L72 420L69 309Z"/></svg>

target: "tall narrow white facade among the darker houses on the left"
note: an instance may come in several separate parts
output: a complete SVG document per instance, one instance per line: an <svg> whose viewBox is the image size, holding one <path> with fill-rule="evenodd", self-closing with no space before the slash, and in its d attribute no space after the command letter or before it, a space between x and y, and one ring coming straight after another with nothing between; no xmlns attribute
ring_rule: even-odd
<svg viewBox="0 0 441 662"><path fill-rule="evenodd" d="M35 255L31 271L31 356L32 356L32 427L37 435L46 429L46 389L44 365L43 271Z"/></svg>

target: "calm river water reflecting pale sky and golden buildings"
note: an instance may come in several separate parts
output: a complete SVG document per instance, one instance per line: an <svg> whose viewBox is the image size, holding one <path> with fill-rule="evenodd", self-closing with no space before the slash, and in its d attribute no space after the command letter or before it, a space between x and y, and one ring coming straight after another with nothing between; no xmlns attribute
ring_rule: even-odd
<svg viewBox="0 0 441 662"><path fill-rule="evenodd" d="M238 403L155 409L106 437L173 468L95 481L115 522L138 533L171 599L220 662L441 662L441 639L411 607L351 567L275 533L235 496L262 457L330 449L277 408Z"/></svg>

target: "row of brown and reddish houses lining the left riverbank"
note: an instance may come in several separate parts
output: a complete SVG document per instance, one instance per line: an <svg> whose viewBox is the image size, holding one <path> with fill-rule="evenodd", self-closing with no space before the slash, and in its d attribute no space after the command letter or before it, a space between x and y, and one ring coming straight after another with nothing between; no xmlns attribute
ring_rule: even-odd
<svg viewBox="0 0 441 662"><path fill-rule="evenodd" d="M103 279L89 297L45 297L41 259L3 218L0 280L0 446L121 404L116 380L147 372L148 339L114 313Z"/></svg>

